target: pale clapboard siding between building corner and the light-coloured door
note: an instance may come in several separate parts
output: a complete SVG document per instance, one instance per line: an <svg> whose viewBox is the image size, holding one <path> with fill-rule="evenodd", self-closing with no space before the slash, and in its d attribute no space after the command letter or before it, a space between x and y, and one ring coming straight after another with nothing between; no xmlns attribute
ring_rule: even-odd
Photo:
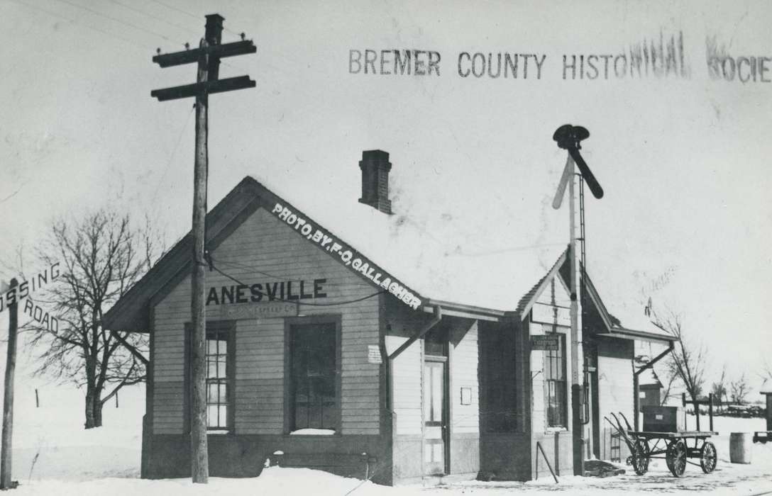
<svg viewBox="0 0 772 496"><path fill-rule="evenodd" d="M391 355L408 338L386 336L386 351ZM397 414L394 434L422 434L421 376L423 340L418 339L394 359L391 380L393 381L393 408Z"/></svg>

